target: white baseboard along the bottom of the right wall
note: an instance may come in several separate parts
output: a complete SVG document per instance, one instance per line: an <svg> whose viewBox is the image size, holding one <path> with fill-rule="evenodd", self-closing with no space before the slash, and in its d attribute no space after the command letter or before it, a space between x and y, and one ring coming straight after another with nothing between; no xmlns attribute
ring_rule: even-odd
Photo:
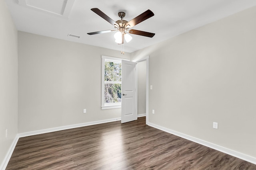
<svg viewBox="0 0 256 170"><path fill-rule="evenodd" d="M252 157L252 156L249 156L249 155L246 155L246 154L237 152L235 150L231 150L231 149L228 149L228 148L225 148L225 147L222 147L222 146L219 146L219 145L207 142L207 141L203 141L201 139L198 139L198 138L195 138L195 137L191 137L189 135L185 135L183 133L179 133L179 132L173 131L171 129L167 129L165 127L158 126L158 125L155 125L155 124L150 123L150 122L148 123L148 125L151 126L151 127L156 128L156 129L159 129L161 131L165 131L167 133L171 133L172 135L176 135L178 137L182 137L184 139L188 139L189 141L198 143L200 145L204 145L206 147L218 150L218 151L223 152L225 154L229 154L229 155L234 156L236 158L240 158L240 159L245 160L247 162L251 162L252 164L256 164L256 158L255 157Z"/></svg>

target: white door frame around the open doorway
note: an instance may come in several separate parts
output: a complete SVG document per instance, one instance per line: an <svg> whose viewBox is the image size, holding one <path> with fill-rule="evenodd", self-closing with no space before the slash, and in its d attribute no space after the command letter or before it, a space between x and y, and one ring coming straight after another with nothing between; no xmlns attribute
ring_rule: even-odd
<svg viewBox="0 0 256 170"><path fill-rule="evenodd" d="M149 118L149 56L144 58L133 60L133 62L140 63L146 61L146 125L148 125ZM138 89L138 69L136 69L136 88ZM138 90L136 90L136 100L138 101ZM138 110L138 108L137 108Z"/></svg>

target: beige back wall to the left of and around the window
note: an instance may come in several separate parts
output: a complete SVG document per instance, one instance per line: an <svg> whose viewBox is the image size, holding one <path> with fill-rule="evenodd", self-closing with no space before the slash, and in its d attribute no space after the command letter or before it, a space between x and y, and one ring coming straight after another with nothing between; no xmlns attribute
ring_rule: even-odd
<svg viewBox="0 0 256 170"><path fill-rule="evenodd" d="M130 59L18 31L18 133L121 117L121 109L101 110L101 55Z"/></svg>

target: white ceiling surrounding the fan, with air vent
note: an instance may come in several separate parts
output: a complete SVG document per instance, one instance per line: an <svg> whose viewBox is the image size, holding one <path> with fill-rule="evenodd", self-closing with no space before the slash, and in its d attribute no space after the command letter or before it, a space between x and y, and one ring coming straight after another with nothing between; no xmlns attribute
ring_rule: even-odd
<svg viewBox="0 0 256 170"><path fill-rule="evenodd" d="M153 38L132 35L124 44L133 52L164 41L191 29L256 6L256 0L6 0L19 31L74 41L108 49L121 50L114 33L88 35L89 32L114 29L110 23L92 12L99 8L114 21L118 12L130 21L150 9L155 16L132 29L156 33ZM68 37L68 34L80 38Z"/></svg>

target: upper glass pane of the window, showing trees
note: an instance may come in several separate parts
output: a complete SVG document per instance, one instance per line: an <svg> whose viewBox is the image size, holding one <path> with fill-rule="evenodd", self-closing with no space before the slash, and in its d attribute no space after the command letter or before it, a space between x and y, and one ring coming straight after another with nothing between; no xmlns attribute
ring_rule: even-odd
<svg viewBox="0 0 256 170"><path fill-rule="evenodd" d="M121 63L105 61L105 81L120 82L121 78Z"/></svg>

